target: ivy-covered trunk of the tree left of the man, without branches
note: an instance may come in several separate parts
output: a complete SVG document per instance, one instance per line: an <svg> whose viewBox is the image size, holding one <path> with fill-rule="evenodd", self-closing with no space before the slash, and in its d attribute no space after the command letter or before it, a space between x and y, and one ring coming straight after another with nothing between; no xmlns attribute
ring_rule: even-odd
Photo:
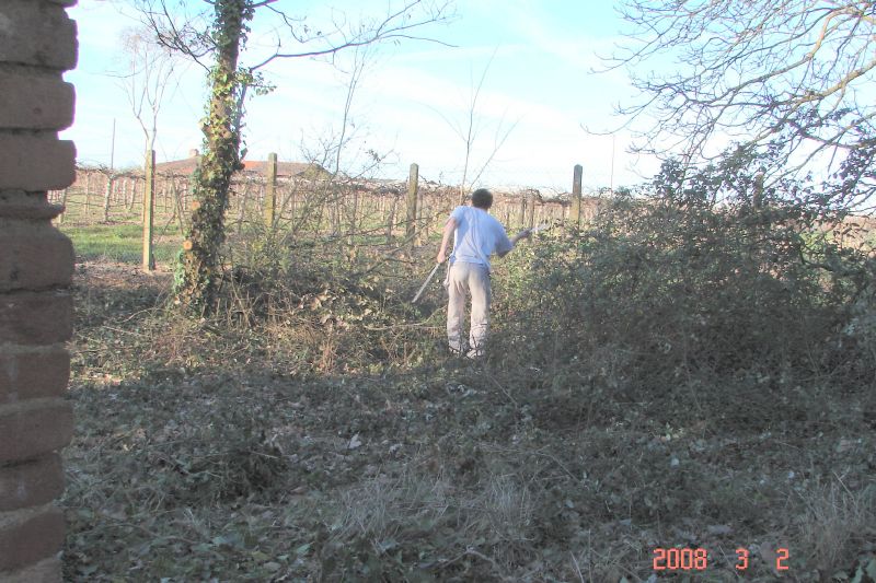
<svg viewBox="0 0 876 583"><path fill-rule="evenodd" d="M210 72L209 117L203 126L204 153L193 175L192 221L183 243L176 288L183 307L193 314L209 313L215 307L221 277L228 190L240 166L238 54L246 37L246 21L252 18L251 4L251 0L215 2L217 58Z"/></svg>

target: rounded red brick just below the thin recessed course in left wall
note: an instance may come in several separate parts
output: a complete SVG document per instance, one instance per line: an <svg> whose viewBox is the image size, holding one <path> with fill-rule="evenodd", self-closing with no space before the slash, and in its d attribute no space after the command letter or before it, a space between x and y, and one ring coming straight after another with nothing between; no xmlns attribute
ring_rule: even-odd
<svg viewBox="0 0 876 583"><path fill-rule="evenodd" d="M0 292L70 284L73 245L50 224L0 219Z"/></svg>

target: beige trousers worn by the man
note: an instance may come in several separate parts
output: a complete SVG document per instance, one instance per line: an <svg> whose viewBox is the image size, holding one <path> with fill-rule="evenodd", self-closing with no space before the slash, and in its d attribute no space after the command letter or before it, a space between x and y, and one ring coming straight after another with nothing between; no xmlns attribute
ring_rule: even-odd
<svg viewBox="0 0 876 583"><path fill-rule="evenodd" d="M489 270L485 265L456 261L447 275L447 339L450 350L471 357L484 353L489 331ZM472 317L468 346L463 343L465 300L472 296Z"/></svg>

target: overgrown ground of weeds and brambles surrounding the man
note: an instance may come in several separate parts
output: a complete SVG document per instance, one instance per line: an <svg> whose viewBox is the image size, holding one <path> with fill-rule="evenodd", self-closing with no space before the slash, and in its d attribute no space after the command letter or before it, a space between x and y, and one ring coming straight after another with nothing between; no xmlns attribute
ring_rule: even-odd
<svg viewBox="0 0 876 583"><path fill-rule="evenodd" d="M734 303L723 276L684 280L718 264L683 247L668 277L635 267L653 240L549 231L497 261L473 362L446 352L437 282L410 304L434 238L242 237L192 320L171 242L145 275L132 228L62 230L66 580L876 580L876 343L834 349L833 312L763 269L727 268L757 288Z"/></svg>

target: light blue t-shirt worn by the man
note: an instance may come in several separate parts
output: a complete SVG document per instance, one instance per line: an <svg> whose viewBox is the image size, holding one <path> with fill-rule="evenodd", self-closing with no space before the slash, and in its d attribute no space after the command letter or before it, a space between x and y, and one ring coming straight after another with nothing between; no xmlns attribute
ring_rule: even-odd
<svg viewBox="0 0 876 583"><path fill-rule="evenodd" d="M476 207L457 207L450 217L457 221L453 233L453 253L450 264L463 261L489 267L494 253L511 250L511 241L505 228L492 214Z"/></svg>

